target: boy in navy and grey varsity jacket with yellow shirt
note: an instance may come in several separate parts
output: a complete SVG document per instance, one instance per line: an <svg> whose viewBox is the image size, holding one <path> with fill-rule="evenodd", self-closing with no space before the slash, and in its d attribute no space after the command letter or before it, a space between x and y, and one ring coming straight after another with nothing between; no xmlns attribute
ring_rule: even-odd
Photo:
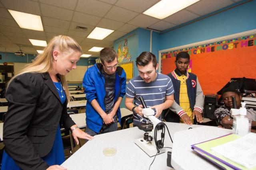
<svg viewBox="0 0 256 170"><path fill-rule="evenodd" d="M176 69L168 74L174 87L174 103L165 117L168 122L202 123L203 92L198 78L193 73L188 73L190 56L182 51L177 54ZM196 117L196 119L194 119Z"/></svg>

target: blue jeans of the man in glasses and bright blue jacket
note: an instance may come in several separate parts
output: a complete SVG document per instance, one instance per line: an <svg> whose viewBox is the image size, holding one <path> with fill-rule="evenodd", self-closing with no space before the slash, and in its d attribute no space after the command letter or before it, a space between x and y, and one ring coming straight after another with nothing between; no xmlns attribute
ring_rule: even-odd
<svg viewBox="0 0 256 170"><path fill-rule="evenodd" d="M100 129L100 132L94 132L92 129L86 127L85 132L87 134L90 134L91 136L95 136L96 134L103 134L103 133L107 133L107 132L114 132L117 130L117 116L114 116L114 122L111 123L110 125L102 125L102 128ZM87 142L88 140L86 139L85 142Z"/></svg>

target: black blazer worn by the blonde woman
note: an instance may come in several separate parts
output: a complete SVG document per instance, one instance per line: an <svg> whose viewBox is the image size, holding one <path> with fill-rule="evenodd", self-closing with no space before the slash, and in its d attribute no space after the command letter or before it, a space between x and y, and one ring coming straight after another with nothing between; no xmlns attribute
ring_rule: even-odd
<svg viewBox="0 0 256 170"><path fill-rule="evenodd" d="M6 91L8 111L4 121L6 152L22 169L46 169L41 157L52 149L60 121L75 125L62 105L49 73L24 73Z"/></svg>

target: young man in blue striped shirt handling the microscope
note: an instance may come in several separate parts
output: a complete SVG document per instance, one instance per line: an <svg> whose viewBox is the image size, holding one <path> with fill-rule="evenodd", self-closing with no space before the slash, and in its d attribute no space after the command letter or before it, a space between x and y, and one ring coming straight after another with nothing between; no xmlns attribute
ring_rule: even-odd
<svg viewBox="0 0 256 170"><path fill-rule="evenodd" d="M158 63L156 56L150 52L142 52L136 58L139 75L130 80L126 88L125 105L133 112L133 125L146 122L142 117L142 105L139 97L142 96L147 107L154 109L155 117L162 121L161 114L174 101L172 81L167 75L157 73Z"/></svg>

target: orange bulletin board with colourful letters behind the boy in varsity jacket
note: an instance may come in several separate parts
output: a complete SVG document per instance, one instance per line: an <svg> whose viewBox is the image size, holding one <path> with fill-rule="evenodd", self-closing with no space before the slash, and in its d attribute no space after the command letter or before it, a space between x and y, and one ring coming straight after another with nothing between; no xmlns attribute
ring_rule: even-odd
<svg viewBox="0 0 256 170"><path fill-rule="evenodd" d="M180 51L190 54L188 69L205 95L216 94L233 77L256 78L256 30L159 51L161 73L176 68Z"/></svg>

